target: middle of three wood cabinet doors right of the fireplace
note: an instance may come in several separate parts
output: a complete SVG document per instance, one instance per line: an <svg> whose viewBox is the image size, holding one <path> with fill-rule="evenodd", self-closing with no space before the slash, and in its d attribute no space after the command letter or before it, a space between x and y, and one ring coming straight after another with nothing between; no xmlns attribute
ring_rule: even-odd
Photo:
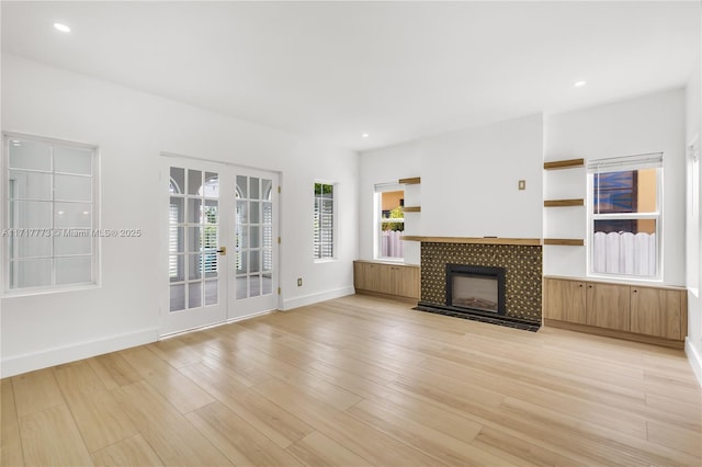
<svg viewBox="0 0 702 467"><path fill-rule="evenodd" d="M630 330L631 306L629 285L587 284L587 324L598 328Z"/></svg>

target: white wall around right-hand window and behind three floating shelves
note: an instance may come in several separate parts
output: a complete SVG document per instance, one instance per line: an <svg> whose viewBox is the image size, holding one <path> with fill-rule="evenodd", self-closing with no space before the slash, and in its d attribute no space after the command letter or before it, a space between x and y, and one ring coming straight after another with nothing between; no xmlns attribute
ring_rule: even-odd
<svg viewBox="0 0 702 467"><path fill-rule="evenodd" d="M686 284L684 118L682 89L545 118L546 161L664 152L663 283L667 285ZM544 179L545 198L586 197L584 169L548 171ZM546 236L587 239L582 208L573 208L571 213L561 210L555 216L559 216L557 223L552 221L551 212L546 214ZM584 277L586 273L586 248L544 247L544 274Z"/></svg>

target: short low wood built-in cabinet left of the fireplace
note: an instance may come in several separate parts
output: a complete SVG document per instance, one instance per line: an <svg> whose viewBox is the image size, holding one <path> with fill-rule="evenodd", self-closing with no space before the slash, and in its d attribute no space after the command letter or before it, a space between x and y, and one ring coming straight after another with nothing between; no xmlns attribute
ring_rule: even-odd
<svg viewBox="0 0 702 467"><path fill-rule="evenodd" d="M353 286L359 294L419 300L419 266L377 261L353 262Z"/></svg>

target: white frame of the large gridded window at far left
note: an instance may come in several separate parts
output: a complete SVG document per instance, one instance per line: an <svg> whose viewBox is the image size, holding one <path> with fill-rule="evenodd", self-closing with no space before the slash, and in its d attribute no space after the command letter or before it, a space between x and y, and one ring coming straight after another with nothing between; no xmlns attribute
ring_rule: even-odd
<svg viewBox="0 0 702 467"><path fill-rule="evenodd" d="M79 283L67 283L67 284L56 284L56 265L53 263L52 265L52 284L43 285L43 286L27 286L27 287L14 287L10 288L10 267L11 267L11 258L10 258L10 241L9 238L11 236L11 227L10 227L10 195L9 195L9 184L10 184L10 145L13 141L32 141L38 144L45 144L48 146L63 146L63 147L71 147L82 150L88 150L91 152L92 158L92 167L91 174L89 175L91 179L92 185L92 200L91 200L91 226L89 232L83 232L86 229L76 229L81 230L77 232L77 236L89 235L92 239L91 241L91 280L87 282ZM56 172L54 167L52 167L50 172L42 171L42 173L50 173L52 176L55 176ZM64 139L49 138L44 136L36 136L30 134L14 133L14 132L2 132L2 176L0 178L0 189L2 190L2 195L0 196L2 202L2 210L7 214L2 216L2 220L0 221L2 226L2 246L0 248L0 263L2 263L4 281L2 284L2 294L4 296L26 296L26 295L41 295L41 294L49 294L57 292L68 292L76 289L86 289L86 288L95 288L100 286L100 248L101 248L101 235L100 235L100 151L99 147L95 145L89 145L84 143L77 141L68 141ZM56 203L52 195L52 204ZM44 229L42 229L44 230ZM52 232L47 234L52 237L56 236L56 229L54 225L52 225ZM70 230L61 229L61 230ZM80 234L80 235L78 235ZM43 232L42 232L43 235ZM52 249L50 255L45 255L42 258L50 258L52 260L56 258L60 258L61 255L57 255L55 251Z"/></svg>

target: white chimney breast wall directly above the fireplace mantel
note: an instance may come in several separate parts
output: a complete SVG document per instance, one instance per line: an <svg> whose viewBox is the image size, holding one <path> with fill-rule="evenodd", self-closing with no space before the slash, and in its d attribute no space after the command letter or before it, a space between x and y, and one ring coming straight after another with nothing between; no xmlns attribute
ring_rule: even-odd
<svg viewBox="0 0 702 467"><path fill-rule="evenodd" d="M541 114L424 140L421 235L541 238L542 141Z"/></svg>

